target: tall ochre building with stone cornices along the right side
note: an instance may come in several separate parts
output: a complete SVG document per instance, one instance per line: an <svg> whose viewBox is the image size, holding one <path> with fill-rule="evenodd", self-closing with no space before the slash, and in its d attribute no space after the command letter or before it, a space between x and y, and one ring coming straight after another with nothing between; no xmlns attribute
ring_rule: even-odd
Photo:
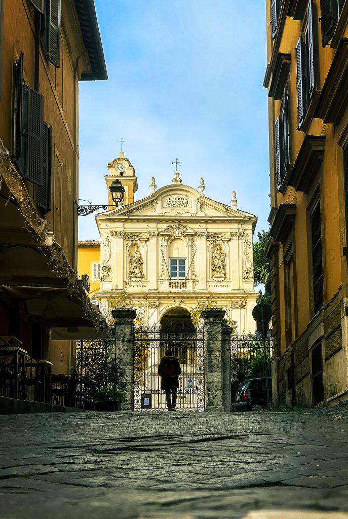
<svg viewBox="0 0 348 519"><path fill-rule="evenodd" d="M267 0L273 399L348 390L348 2Z"/></svg>

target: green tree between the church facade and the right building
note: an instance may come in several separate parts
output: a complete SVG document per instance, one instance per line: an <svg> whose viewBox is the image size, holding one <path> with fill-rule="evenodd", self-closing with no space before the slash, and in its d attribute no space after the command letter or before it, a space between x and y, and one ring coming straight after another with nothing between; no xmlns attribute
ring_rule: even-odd
<svg viewBox="0 0 348 519"><path fill-rule="evenodd" d="M270 237L270 229L257 234L259 241L253 245L254 285L265 285L263 303L271 305L271 266L266 256L266 248Z"/></svg>

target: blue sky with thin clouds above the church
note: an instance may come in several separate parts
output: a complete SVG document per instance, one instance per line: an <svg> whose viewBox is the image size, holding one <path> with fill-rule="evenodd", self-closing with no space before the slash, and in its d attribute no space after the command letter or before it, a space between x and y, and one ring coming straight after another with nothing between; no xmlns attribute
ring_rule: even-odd
<svg viewBox="0 0 348 519"><path fill-rule="evenodd" d="M260 0L94 0L108 81L79 84L79 196L107 200L107 163L123 151L148 196L183 184L258 217L270 199L265 3ZM80 201L80 204L85 202ZM255 238L256 235L255 235ZM94 215L79 218L79 239L99 239Z"/></svg>

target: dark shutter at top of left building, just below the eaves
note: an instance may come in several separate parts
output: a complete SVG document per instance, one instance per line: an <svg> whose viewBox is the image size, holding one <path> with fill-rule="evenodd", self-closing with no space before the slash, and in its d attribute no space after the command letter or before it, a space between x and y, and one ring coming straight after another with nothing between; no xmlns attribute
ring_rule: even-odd
<svg viewBox="0 0 348 519"><path fill-rule="evenodd" d="M60 65L61 0L46 0L43 47L45 56L54 66Z"/></svg>

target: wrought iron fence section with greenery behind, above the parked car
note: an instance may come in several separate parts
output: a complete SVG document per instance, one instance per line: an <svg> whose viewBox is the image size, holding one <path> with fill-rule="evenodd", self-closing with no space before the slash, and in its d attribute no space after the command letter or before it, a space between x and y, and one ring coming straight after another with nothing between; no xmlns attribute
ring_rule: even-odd
<svg viewBox="0 0 348 519"><path fill-rule="evenodd" d="M266 351L265 351L266 350ZM249 378L271 377L272 339L263 342L255 335L237 335L231 340L231 396L234 402L238 386Z"/></svg>

